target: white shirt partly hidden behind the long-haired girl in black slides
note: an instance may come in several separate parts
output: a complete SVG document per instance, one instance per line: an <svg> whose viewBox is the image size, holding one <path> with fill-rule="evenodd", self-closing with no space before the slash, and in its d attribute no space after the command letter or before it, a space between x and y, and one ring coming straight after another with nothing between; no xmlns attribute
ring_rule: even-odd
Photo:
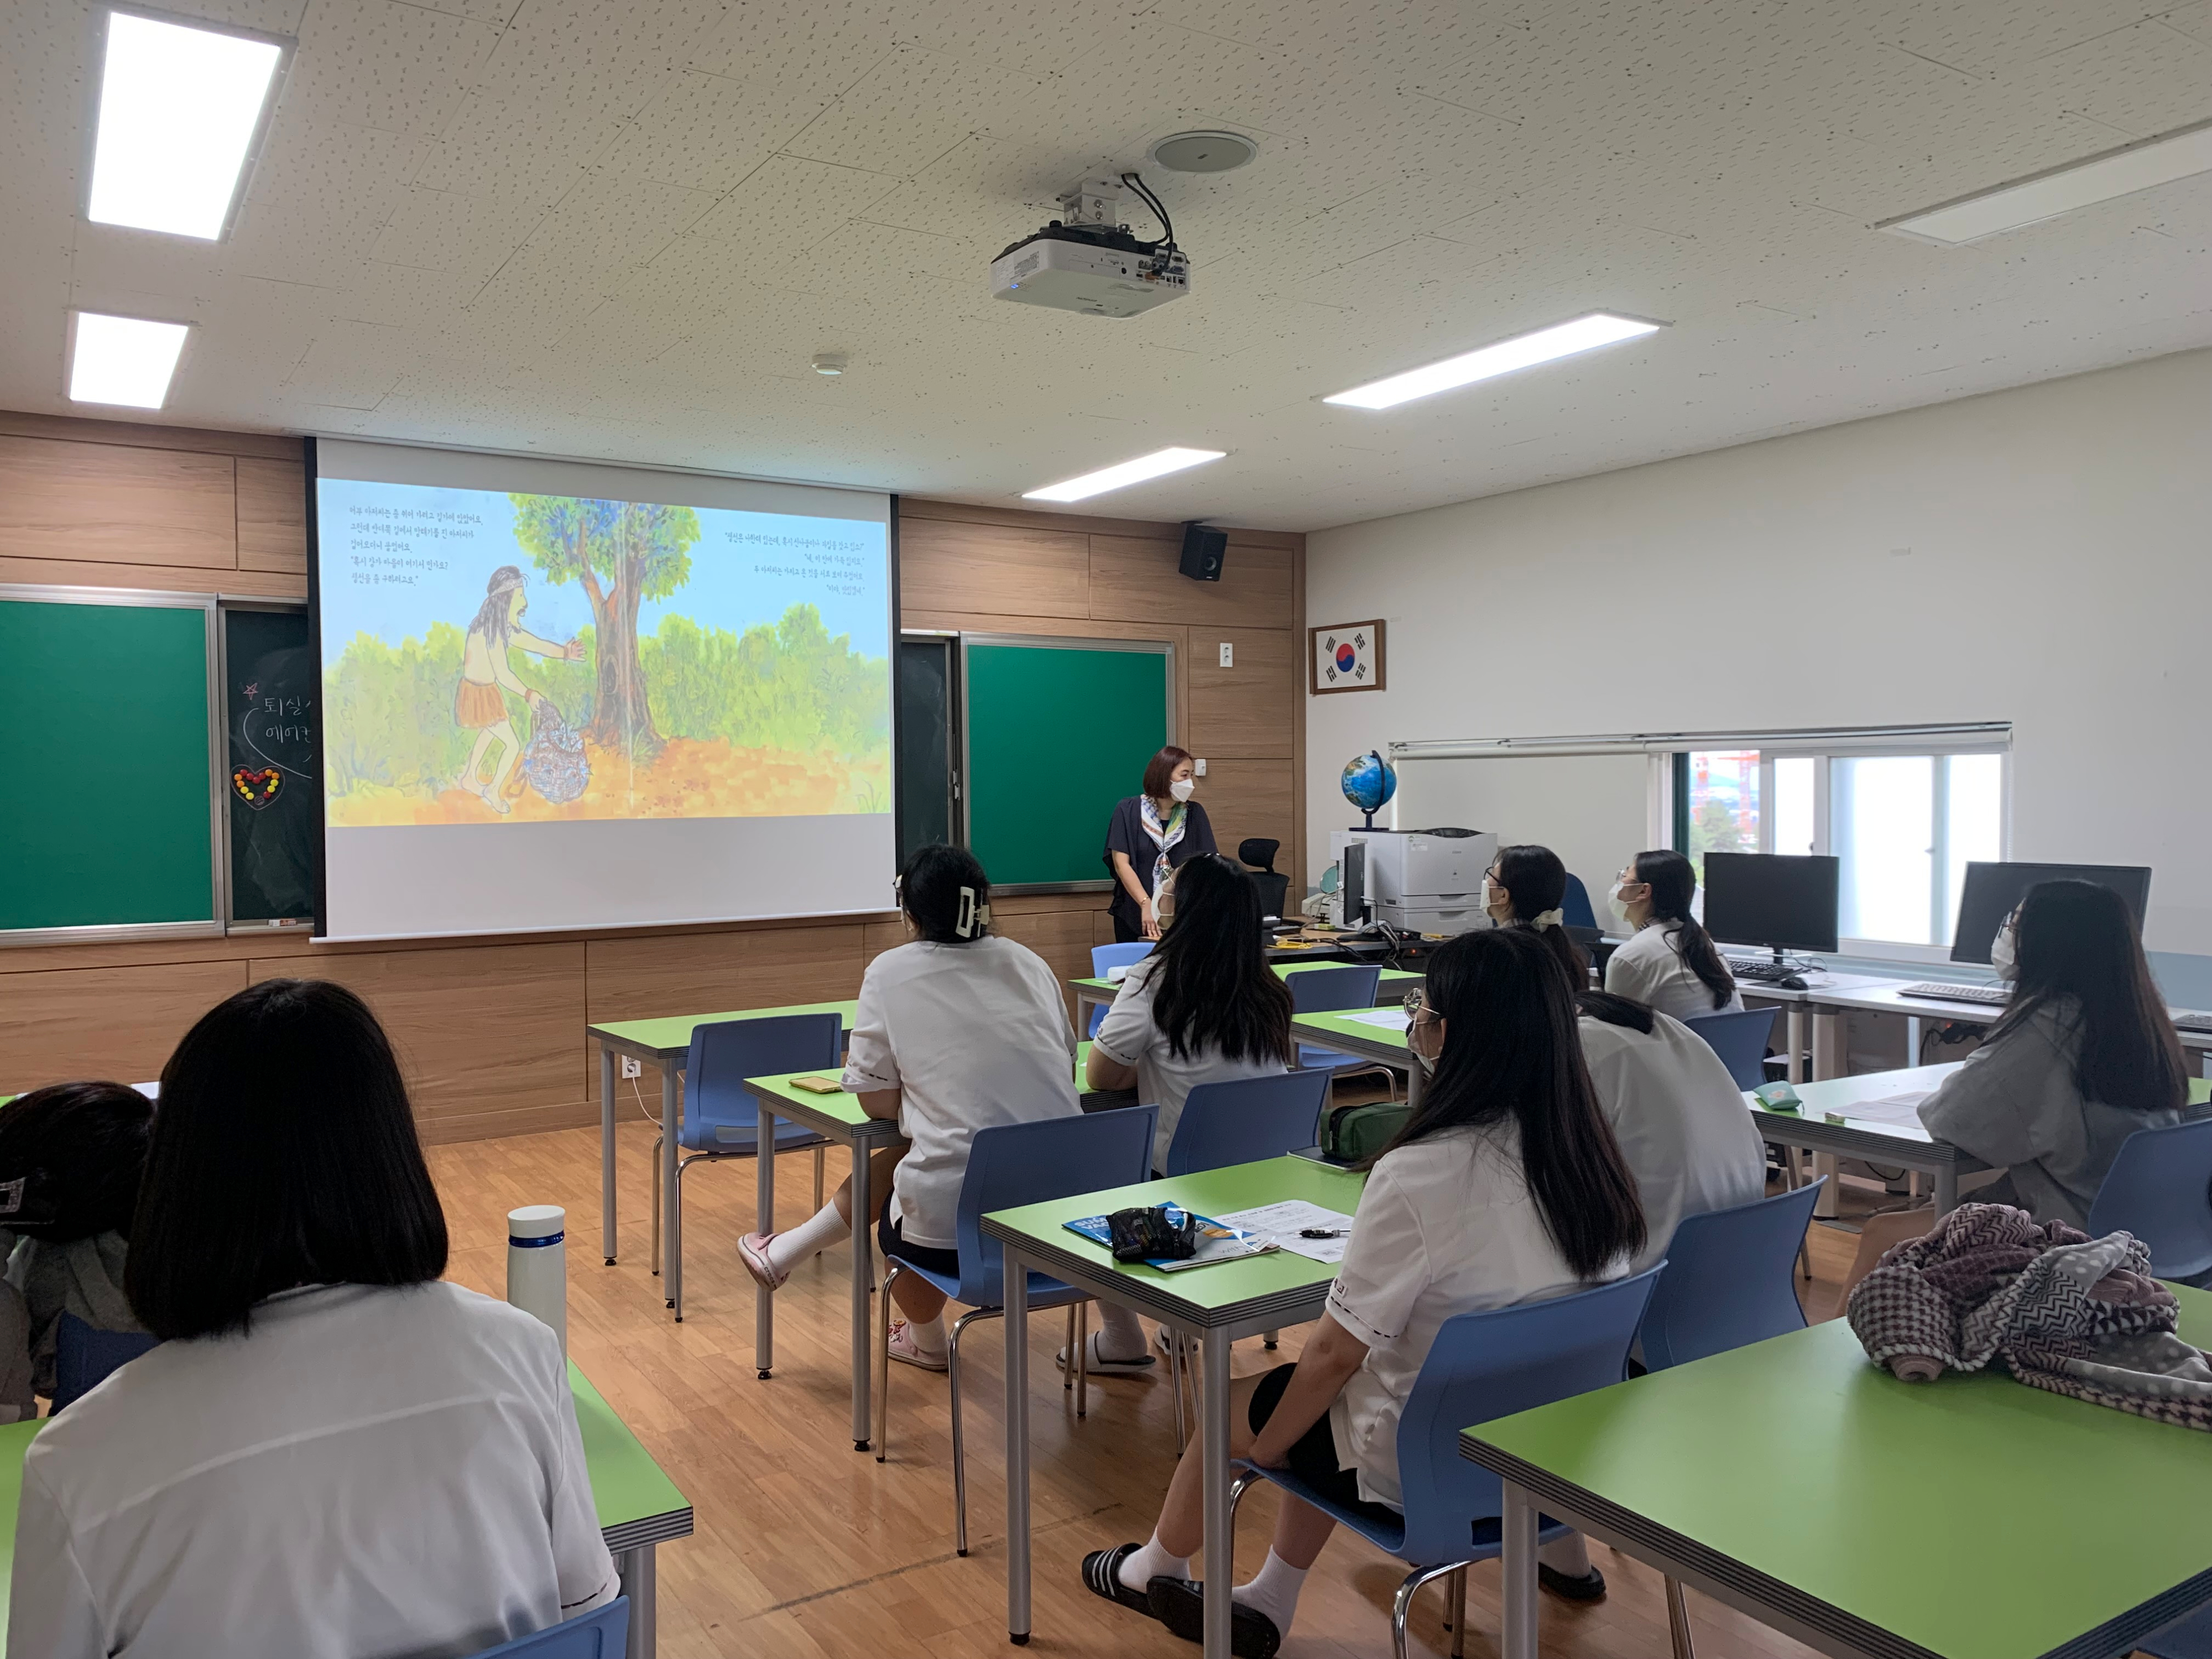
<svg viewBox="0 0 2212 1659"><path fill-rule="evenodd" d="M1767 1152L1743 1091L1701 1035L1652 1015L1650 1033L1584 1018L1582 1055L1597 1106L1644 1197L1644 1254L1657 1267L1686 1214L1730 1210L1767 1190Z"/></svg>

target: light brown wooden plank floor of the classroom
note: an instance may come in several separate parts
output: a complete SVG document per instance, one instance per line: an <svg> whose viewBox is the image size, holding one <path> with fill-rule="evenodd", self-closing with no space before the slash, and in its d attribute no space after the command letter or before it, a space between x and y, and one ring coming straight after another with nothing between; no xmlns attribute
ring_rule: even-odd
<svg viewBox="0 0 2212 1659"><path fill-rule="evenodd" d="M752 1164L701 1166L686 1177L686 1318L672 1323L648 1272L648 1148L653 1128L622 1128L622 1261L599 1259L599 1135L562 1130L431 1148L453 1230L451 1276L504 1294L507 1210L568 1208L568 1349L690 1495L699 1531L661 1546L659 1635L668 1659L748 1655L927 1655L1009 1659L1004 1553L1002 1356L995 1325L967 1349L971 1555L953 1555L945 1378L894 1365L891 1455L852 1449L847 1365L847 1254L818 1256L776 1296L776 1374L752 1367L752 1281L737 1237L752 1225ZM810 1197L810 1157L779 1166L783 1221ZM830 1152L830 1181L843 1152ZM1834 1310L1856 1239L1812 1230L1814 1318ZM1803 1283L1803 1281L1801 1281ZM1042 1329L1040 1329L1042 1327ZM1166 1380L1110 1378L1091 1387L1075 1420L1053 1349L1060 1318L1033 1325L1035 1635L1029 1655L1190 1655L1161 1626L1113 1608L1077 1582L1086 1551L1148 1537L1175 1464ZM1237 1347L1237 1369L1294 1358ZM1239 1573L1265 1553L1272 1498L1261 1489L1239 1517ZM1668 1650L1659 1577L1593 1546L1610 1595L1593 1606L1544 1597L1544 1652L1628 1659ZM1385 1659L1389 1599L1402 1568L1338 1533L1307 1579L1285 1659ZM1418 1652L1449 1652L1442 1588L1422 1593ZM1701 1659L1809 1655L1785 1637L1692 1597ZM1498 1566L1469 1575L1467 1652L1498 1652Z"/></svg>

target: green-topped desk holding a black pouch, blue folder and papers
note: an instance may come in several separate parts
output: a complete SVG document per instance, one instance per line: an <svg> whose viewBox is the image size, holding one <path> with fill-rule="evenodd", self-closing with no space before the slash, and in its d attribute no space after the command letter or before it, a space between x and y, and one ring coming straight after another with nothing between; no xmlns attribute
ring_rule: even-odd
<svg viewBox="0 0 2212 1659"><path fill-rule="evenodd" d="M1093 1296L1150 1314L1199 1338L1199 1425L1206 1444L1206 1582L1230 1582L1230 1343L1318 1318L1336 1270L1287 1250L1164 1274L1119 1265L1113 1254L1062 1223L1130 1203L1179 1203L1219 1217L1261 1203L1307 1199L1352 1214L1365 1175L1303 1157L1272 1157L1203 1175L1086 1192L982 1219L982 1232L1006 1248L1006 1632L1029 1641L1029 1270L1051 1274ZM1206 1659L1228 1659L1230 1599L1208 1597Z"/></svg>

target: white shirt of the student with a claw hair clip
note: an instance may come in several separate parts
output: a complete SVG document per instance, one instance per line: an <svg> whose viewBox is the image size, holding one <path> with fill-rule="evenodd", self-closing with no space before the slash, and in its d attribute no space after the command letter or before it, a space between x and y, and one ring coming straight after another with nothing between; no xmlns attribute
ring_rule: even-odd
<svg viewBox="0 0 2212 1659"><path fill-rule="evenodd" d="M1075 1117L1075 1031L1044 958L984 933L885 951L860 980L845 1088L898 1088L911 1150L891 1177L907 1243L958 1250L956 1217L978 1128Z"/></svg>

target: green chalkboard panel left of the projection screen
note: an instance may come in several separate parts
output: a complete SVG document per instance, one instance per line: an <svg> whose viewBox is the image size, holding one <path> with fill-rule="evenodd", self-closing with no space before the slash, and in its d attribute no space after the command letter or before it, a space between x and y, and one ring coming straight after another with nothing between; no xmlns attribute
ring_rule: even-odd
<svg viewBox="0 0 2212 1659"><path fill-rule="evenodd" d="M212 597L0 588L0 933L215 925Z"/></svg>

